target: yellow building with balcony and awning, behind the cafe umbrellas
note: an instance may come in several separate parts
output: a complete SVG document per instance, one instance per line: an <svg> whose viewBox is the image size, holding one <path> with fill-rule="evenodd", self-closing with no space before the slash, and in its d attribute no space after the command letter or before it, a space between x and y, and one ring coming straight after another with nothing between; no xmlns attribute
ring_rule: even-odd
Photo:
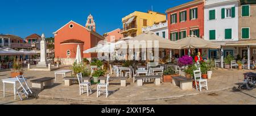
<svg viewBox="0 0 256 116"><path fill-rule="evenodd" d="M142 34L142 28L152 26L154 23L163 20L166 20L166 14L154 11L148 11L148 13L135 11L122 18L123 31L121 34L124 38L127 36L135 37Z"/></svg>

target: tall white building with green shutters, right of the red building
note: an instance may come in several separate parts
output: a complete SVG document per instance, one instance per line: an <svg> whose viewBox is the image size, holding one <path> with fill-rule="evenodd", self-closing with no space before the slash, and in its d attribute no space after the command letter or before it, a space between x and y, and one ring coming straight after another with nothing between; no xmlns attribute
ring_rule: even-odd
<svg viewBox="0 0 256 116"><path fill-rule="evenodd" d="M222 50L207 50L210 59L237 55L236 48L225 45L238 41L238 3L237 0L205 0L204 39L223 45Z"/></svg>

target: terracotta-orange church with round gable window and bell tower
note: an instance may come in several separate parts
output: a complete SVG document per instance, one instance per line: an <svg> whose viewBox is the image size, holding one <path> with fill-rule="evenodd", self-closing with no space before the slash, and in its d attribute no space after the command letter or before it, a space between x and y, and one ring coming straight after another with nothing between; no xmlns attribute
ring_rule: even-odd
<svg viewBox="0 0 256 116"><path fill-rule="evenodd" d="M74 63L77 45L80 45L82 53L105 39L96 32L92 15L88 16L86 27L71 20L53 34L55 36L55 61L59 60L63 65ZM97 53L84 53L82 57L91 60L97 57Z"/></svg>

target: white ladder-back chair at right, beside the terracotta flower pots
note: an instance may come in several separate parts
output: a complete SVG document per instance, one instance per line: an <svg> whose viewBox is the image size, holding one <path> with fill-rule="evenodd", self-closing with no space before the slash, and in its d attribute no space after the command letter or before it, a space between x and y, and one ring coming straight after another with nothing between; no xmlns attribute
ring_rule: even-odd
<svg viewBox="0 0 256 116"><path fill-rule="evenodd" d="M206 87L206 89L208 90L207 79L202 79L201 71L199 70L194 71L194 79L196 83L196 90L200 90L201 92L203 87ZM197 85L197 82L198 82L198 85Z"/></svg>

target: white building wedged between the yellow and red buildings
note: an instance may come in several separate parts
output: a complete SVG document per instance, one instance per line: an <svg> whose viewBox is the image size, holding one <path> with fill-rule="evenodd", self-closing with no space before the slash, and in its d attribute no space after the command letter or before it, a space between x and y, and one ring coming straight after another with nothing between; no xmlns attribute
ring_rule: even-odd
<svg viewBox="0 0 256 116"><path fill-rule="evenodd" d="M156 23L153 26L142 28L142 32L143 31L152 31L155 33L155 35L161 36L162 38L169 38L167 21Z"/></svg>

